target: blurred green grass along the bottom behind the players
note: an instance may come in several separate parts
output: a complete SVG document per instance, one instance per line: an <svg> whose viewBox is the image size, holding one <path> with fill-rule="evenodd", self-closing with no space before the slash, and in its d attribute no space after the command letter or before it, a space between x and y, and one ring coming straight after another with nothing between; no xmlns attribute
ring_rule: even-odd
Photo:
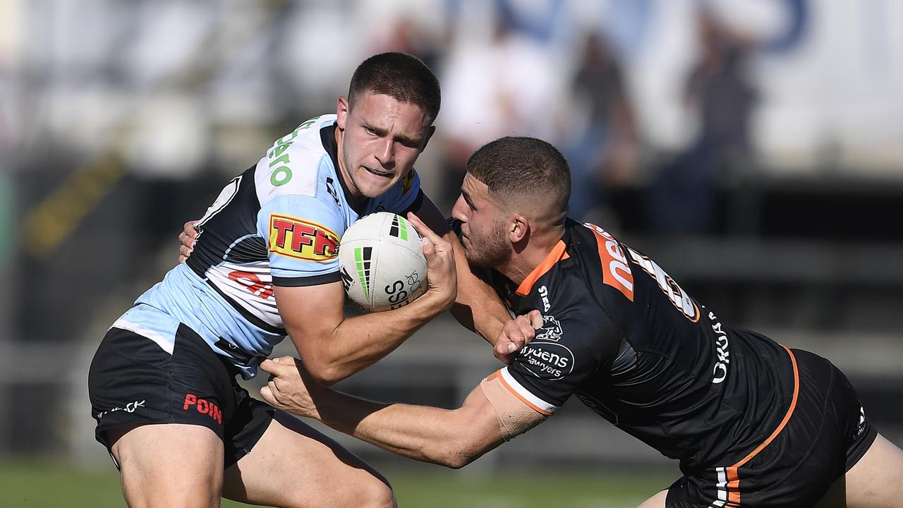
<svg viewBox="0 0 903 508"><path fill-rule="evenodd" d="M0 506L4 508L106 508L125 506L113 467L79 471L57 462L0 461ZM480 480L466 470L383 469L406 506L549 508L628 507L670 484L664 475L573 473L539 468ZM224 507L247 506L226 501Z"/></svg>

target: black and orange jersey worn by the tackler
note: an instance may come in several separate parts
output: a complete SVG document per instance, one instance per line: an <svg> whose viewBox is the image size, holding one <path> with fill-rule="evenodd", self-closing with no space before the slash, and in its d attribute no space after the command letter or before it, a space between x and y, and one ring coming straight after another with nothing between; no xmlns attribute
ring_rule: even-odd
<svg viewBox="0 0 903 508"><path fill-rule="evenodd" d="M551 415L572 394L684 471L756 447L793 403L783 346L731 328L666 271L592 224L563 239L515 286L490 278L517 315L544 326L499 374Z"/></svg>

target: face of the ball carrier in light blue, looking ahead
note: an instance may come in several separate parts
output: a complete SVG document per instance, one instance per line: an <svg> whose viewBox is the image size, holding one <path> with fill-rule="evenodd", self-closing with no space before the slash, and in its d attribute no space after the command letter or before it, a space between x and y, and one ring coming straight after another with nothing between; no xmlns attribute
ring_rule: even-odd
<svg viewBox="0 0 903 508"><path fill-rule="evenodd" d="M340 98L337 109L340 171L358 198L386 193L414 168L433 135L422 108L387 95L368 93L354 104Z"/></svg>

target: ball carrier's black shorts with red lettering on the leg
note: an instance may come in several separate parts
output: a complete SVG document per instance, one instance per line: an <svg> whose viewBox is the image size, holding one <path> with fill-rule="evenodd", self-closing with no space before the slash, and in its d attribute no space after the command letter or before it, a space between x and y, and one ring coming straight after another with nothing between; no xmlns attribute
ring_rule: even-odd
<svg viewBox="0 0 903 508"><path fill-rule="evenodd" d="M110 328L88 371L95 437L108 449L111 428L200 425L222 439L224 466L231 466L251 451L275 412L238 385L237 373L188 326L179 326L172 354L144 335Z"/></svg>

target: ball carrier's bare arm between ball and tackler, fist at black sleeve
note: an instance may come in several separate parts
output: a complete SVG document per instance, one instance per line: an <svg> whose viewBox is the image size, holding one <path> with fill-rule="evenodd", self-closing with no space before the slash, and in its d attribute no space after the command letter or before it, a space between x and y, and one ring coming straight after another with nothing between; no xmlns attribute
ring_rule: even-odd
<svg viewBox="0 0 903 508"><path fill-rule="evenodd" d="M511 316L507 308L498 298L495 290L477 277L467 263L461 241L446 225L442 212L424 194L420 208L415 211L417 217L408 216L408 220L418 225L417 218L434 231L442 234L442 239L449 242L454 249L455 268L458 273L458 296L452 306L452 315L461 325L470 331L480 334L494 346L493 353L503 362L509 362L508 355L517 352L533 339L533 330L529 326L510 325ZM535 321L535 320L533 320ZM536 326L538 327L538 326Z"/></svg>

